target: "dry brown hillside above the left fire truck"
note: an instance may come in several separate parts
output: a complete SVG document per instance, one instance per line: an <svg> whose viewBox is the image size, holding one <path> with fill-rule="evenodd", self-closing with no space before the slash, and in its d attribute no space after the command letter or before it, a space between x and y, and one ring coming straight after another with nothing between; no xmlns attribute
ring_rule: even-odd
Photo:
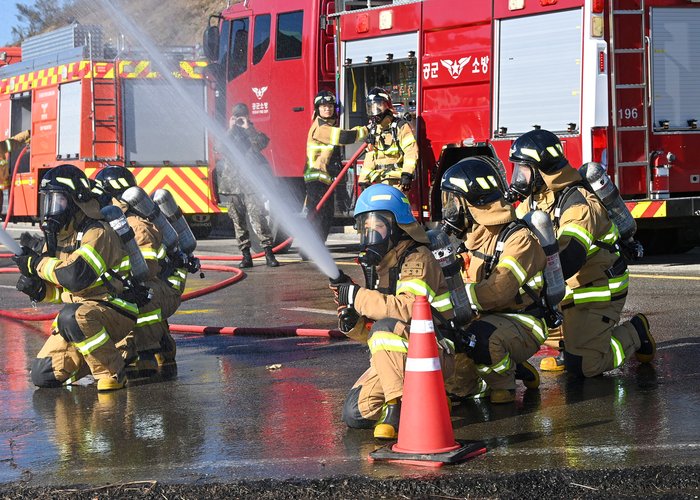
<svg viewBox="0 0 700 500"><path fill-rule="evenodd" d="M231 0L231 4L241 0ZM111 3L158 45L194 45L202 42L209 15L221 13L227 0L111 0ZM60 6L59 6L60 5ZM101 24L105 42L116 43L127 32L127 43L135 43L128 29L117 26L113 15L98 0L35 0L17 4L22 20L13 26L15 40L33 36L72 22Z"/></svg>

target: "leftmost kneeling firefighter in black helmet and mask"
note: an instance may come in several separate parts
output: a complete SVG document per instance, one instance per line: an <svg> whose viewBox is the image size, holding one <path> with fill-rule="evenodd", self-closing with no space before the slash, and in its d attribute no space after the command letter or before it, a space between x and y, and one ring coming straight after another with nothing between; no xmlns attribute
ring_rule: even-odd
<svg viewBox="0 0 700 500"><path fill-rule="evenodd" d="M144 302L141 288L125 286L124 244L101 220L100 204L79 168L49 170L40 192L45 252L25 247L13 257L22 273L17 289L32 301L65 306L32 364L32 381L58 387L92 373L98 391L121 389L126 370L115 344L132 330L137 304Z"/></svg>

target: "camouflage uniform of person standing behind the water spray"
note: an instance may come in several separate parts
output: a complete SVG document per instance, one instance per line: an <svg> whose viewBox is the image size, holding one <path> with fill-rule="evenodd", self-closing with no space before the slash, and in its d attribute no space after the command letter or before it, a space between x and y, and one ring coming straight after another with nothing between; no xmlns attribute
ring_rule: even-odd
<svg viewBox="0 0 700 500"><path fill-rule="evenodd" d="M261 153L270 143L269 137L255 130L252 124L247 129L233 126L227 135L231 141L238 144L241 152L245 153L246 162L250 168L270 169L270 164ZM271 247L274 239L267 223L266 211L260 200L260 194L245 177L240 175L238 168L241 166L226 162L219 172L218 178L219 193L228 198L228 215L236 228L238 247L241 250L250 248L248 215L250 215L256 234L260 236L262 246Z"/></svg>

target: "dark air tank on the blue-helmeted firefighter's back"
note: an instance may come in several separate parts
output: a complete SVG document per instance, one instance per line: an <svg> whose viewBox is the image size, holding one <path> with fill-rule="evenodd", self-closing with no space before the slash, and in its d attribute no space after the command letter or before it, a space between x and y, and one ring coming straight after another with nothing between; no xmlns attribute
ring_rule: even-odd
<svg viewBox="0 0 700 500"><path fill-rule="evenodd" d="M442 274L445 276L450 289L450 300L455 313L455 324L466 326L472 317L472 308L464 288L464 279L460 262L457 260L449 236L443 231L433 229L427 232L430 238L430 250L440 263Z"/></svg>

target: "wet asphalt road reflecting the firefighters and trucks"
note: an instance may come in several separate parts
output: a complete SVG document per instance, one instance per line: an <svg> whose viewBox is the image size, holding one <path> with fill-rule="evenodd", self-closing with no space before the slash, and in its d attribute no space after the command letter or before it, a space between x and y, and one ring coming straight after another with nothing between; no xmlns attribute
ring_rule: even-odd
<svg viewBox="0 0 700 500"><path fill-rule="evenodd" d="M237 253L235 240L218 236L200 242L196 253ZM335 234L328 247L339 267L359 280L352 260L356 241ZM242 281L183 303L171 323L335 328L327 278L313 263L301 262L294 248L279 260L277 269L257 260ZM0 260L0 267L8 265ZM94 385L36 390L28 368L49 323L0 318L0 486L339 475L447 480L559 468L608 477L619 468L669 466L689 466L685 477L697 478L700 253L645 258L631 266L631 275L623 317L637 311L649 317L658 346L651 367L632 360L587 380L543 373L540 388L519 388L515 404L457 403L455 437L482 440L488 451L436 470L370 464L366 456L377 446L372 432L341 422L346 392L368 366L366 346L320 337L178 334L176 373L134 379L111 394L97 394ZM191 275L187 291L227 277ZM31 313L26 297L13 289L16 278L0 274L2 308ZM54 310L40 306L40 312ZM276 364L281 367L268 368Z"/></svg>

